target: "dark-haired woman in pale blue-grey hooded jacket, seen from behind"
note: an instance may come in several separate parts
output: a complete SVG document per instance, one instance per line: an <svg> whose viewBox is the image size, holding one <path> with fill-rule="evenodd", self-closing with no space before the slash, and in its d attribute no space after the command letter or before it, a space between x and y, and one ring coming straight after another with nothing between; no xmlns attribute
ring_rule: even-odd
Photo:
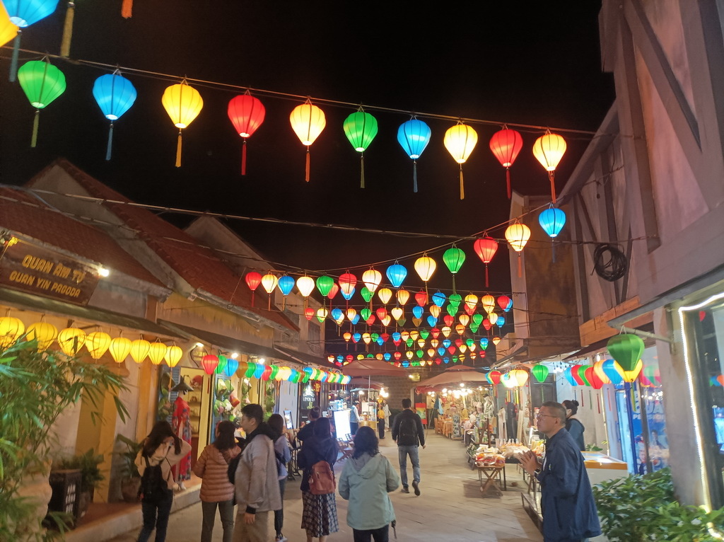
<svg viewBox="0 0 724 542"><path fill-rule="evenodd" d="M400 487L400 476L379 453L374 429L362 427L355 435L355 451L340 476L340 496L350 501L347 525L354 542L389 542L395 510L387 493Z"/></svg>

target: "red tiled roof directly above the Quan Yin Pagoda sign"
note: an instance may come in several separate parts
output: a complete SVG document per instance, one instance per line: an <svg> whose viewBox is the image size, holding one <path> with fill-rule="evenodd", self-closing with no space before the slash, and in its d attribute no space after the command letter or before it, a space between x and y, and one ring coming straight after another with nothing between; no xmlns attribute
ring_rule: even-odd
<svg viewBox="0 0 724 542"><path fill-rule="evenodd" d="M22 189L0 188L0 226L98 262L110 270L162 285L109 235L54 211Z"/></svg>

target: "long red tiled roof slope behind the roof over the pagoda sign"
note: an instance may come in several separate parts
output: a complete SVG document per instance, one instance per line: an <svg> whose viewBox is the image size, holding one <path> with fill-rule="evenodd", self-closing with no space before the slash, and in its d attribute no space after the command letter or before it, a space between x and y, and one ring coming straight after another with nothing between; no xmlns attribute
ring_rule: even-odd
<svg viewBox="0 0 724 542"><path fill-rule="evenodd" d="M67 160L59 159L52 165L62 167L90 196L123 202L104 201L103 204L127 226L136 230L139 238L193 288L207 291L237 307L255 312L277 325L298 331L298 327L278 310L269 311L264 306L252 307L251 291L243 277L236 275L214 254L214 251L200 246L188 233L147 209L125 204L129 203L130 199L92 178Z"/></svg>

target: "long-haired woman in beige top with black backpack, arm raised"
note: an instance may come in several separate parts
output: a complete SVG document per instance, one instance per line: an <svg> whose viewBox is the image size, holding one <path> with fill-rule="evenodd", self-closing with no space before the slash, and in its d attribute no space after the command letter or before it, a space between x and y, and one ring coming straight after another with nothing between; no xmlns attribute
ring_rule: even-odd
<svg viewBox="0 0 724 542"><path fill-rule="evenodd" d="M156 529L156 542L166 540L171 505L174 501L174 478L171 467L191 451L191 445L182 441L166 421L156 422L143 441L135 459L141 475L138 495L141 497L143 528L138 542L146 542Z"/></svg>

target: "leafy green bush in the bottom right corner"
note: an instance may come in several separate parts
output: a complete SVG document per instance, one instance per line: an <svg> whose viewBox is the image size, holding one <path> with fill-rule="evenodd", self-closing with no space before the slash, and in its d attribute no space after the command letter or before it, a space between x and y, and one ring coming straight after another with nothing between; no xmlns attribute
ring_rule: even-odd
<svg viewBox="0 0 724 542"><path fill-rule="evenodd" d="M671 472L662 469L594 485L601 528L610 541L709 542L724 508L705 512L676 501Z"/></svg>

